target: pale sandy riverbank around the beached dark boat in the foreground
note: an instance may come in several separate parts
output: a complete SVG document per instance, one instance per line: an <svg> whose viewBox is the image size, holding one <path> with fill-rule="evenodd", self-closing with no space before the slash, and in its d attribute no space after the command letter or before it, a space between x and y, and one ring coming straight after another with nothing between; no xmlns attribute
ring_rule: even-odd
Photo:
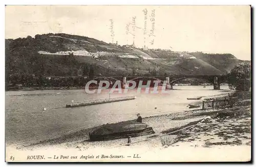
<svg viewBox="0 0 256 167"><path fill-rule="evenodd" d="M250 146L250 105L234 106L232 108L193 110L186 112L171 113L165 115L157 115L143 118L143 123L152 126L155 134L133 137L132 142L137 142L131 147L176 147L176 146L202 146L213 147L215 145L245 145ZM220 116L220 114L229 116ZM236 113L233 115L233 113ZM246 122L246 123L230 123L223 125L195 126L190 128L184 134L166 135L174 129L185 126L191 122L200 121L209 116L210 123L228 122ZM249 122L249 123L248 123ZM205 123L205 122L204 122ZM202 123L201 123L202 124ZM89 141L89 132L97 127L90 129L82 129L70 134L62 135L58 138L43 140L34 144L27 143L19 146L8 146L17 150L40 150L49 148L63 148L72 150L91 150L96 148L113 148L127 143L127 139L116 139L108 141ZM122 146L127 147L127 146Z"/></svg>

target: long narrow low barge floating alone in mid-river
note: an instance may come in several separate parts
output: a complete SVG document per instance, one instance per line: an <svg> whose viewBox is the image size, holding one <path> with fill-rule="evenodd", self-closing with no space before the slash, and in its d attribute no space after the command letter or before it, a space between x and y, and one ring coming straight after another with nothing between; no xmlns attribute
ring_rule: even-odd
<svg viewBox="0 0 256 167"><path fill-rule="evenodd" d="M86 100L86 101L78 101L78 102L74 102L72 100L71 104L66 105L66 108L88 106L88 105L95 105L95 104L102 104L102 103L111 103L111 102L133 100L133 99L135 99L135 96L109 98L109 99L95 99L95 100Z"/></svg>

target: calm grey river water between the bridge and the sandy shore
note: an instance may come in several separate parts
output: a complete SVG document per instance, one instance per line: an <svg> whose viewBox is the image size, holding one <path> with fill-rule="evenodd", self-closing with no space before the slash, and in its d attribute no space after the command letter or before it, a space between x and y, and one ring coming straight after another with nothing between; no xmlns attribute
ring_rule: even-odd
<svg viewBox="0 0 256 167"><path fill-rule="evenodd" d="M151 88L153 90L153 88ZM161 89L161 88L159 88ZM168 93L148 94L143 90L129 90L127 94L88 94L85 90L6 91L6 143L39 141L83 128L132 120L142 117L182 112L188 104L201 104L201 100L187 100L201 96L228 92L228 86L213 90L213 86L174 86ZM114 98L135 95L135 100L66 108L72 100ZM43 111L43 108L47 110Z"/></svg>

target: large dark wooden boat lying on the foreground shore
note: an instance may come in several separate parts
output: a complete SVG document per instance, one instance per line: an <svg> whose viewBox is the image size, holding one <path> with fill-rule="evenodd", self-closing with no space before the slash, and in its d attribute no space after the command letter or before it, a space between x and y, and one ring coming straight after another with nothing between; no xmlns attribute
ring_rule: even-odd
<svg viewBox="0 0 256 167"><path fill-rule="evenodd" d="M136 121L126 121L116 124L102 125L89 133L90 141L113 140L119 138L136 137L154 134L152 127Z"/></svg>

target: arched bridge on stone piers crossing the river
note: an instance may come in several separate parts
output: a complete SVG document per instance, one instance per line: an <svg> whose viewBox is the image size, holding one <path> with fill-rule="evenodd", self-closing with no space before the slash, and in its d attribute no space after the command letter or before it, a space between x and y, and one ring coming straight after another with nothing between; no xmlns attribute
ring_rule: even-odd
<svg viewBox="0 0 256 167"><path fill-rule="evenodd" d="M214 85L214 89L220 89L220 84L223 83L228 79L227 75L175 75L175 76L166 76L166 77L159 77L159 76L151 76L151 77L143 77L143 76L126 76L126 77L97 77L93 80L109 80L113 83L115 81L121 81L122 87L128 81L136 81L136 80L158 80L160 83L165 82L166 88L173 89L173 84L177 81L187 79L187 78L197 78L201 80L206 80Z"/></svg>

